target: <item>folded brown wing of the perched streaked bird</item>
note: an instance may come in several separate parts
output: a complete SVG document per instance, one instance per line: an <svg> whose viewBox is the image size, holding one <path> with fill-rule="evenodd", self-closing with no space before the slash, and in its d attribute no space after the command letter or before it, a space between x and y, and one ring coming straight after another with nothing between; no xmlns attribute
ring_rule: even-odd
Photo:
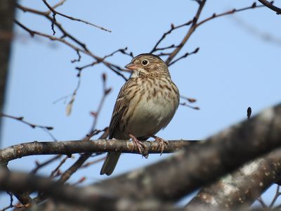
<svg viewBox="0 0 281 211"><path fill-rule="evenodd" d="M128 87L131 86L133 80L129 79L123 87L120 89L119 94L117 96L117 100L115 103L115 107L113 109L112 117L110 120L110 136L109 138L113 138L113 134L115 129L118 127L119 121L121 120L122 116L124 115L124 111L129 107L129 89Z"/></svg>

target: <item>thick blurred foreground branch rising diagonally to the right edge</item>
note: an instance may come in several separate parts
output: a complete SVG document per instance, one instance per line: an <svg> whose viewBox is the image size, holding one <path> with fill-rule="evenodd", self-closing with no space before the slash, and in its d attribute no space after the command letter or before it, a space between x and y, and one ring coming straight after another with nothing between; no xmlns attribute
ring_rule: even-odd
<svg viewBox="0 0 281 211"><path fill-rule="evenodd" d="M94 186L109 189L117 196L176 201L245 162L280 147L280 122L281 104L169 159Z"/></svg>

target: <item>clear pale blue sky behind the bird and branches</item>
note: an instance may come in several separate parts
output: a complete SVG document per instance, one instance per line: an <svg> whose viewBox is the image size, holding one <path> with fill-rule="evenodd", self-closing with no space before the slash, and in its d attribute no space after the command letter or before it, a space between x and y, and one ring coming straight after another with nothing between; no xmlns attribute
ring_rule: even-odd
<svg viewBox="0 0 281 211"><path fill-rule="evenodd" d="M51 5L56 1L48 1ZM233 8L250 6L253 1L207 1L202 19L214 12L221 13ZM20 4L46 10L41 1L20 1ZM67 1L58 11L76 18L102 25L111 33L98 30L57 16L65 29L87 44L98 56L128 47L135 55L147 53L171 23L182 24L192 19L197 8L195 1ZM51 34L51 25L44 18L28 13L17 14L17 19L30 27ZM171 77L183 96L196 98L200 110L180 106L168 127L158 133L164 139L204 139L211 134L244 120L249 106L253 114L280 102L280 52L281 35L278 26L281 19L268 8L256 8L235 15L211 20L200 26L183 50L200 51L169 68ZM162 46L177 44L188 28L169 35ZM23 116L25 120L53 126L56 139L81 139L91 127L91 111L96 111L102 95L101 74L107 74L107 86L112 87L98 119L98 129L110 122L112 108L124 83L103 65L96 65L82 72L81 87L77 92L72 115L65 115L63 101L53 103L62 96L71 94L77 86L76 66L91 63L83 56L80 63L71 63L76 53L63 44L41 37L32 39L25 31L15 27L15 41L11 55L11 72L4 113ZM266 34L273 41L264 39ZM108 58L112 63L124 66L131 58L116 55ZM278 69L279 68L279 69ZM15 120L4 119L1 134L2 146L11 146L29 141L51 141L40 129L31 129ZM113 176L136 167L148 165L168 155L150 155L146 160L141 155L122 155ZM47 156L22 158L9 163L11 170L28 172L34 160ZM75 155L75 159L78 155ZM95 158L93 158L95 159ZM67 165L74 162L69 159ZM99 175L102 163L81 170L70 179L77 181L82 176L87 182L105 179ZM55 167L55 164L51 167ZM51 168L41 170L48 175Z"/></svg>

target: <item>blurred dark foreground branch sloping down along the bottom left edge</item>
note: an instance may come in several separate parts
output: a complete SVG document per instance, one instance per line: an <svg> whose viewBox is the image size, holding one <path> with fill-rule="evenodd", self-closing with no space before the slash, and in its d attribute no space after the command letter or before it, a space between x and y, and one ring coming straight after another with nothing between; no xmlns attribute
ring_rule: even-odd
<svg viewBox="0 0 281 211"><path fill-rule="evenodd" d="M44 192L46 196L53 199L55 202L63 202L67 205L78 205L80 207L79 210L85 210L85 208L106 211L175 210L173 205L169 203L159 203L153 198L136 202L131 198L114 196L107 190L93 186L86 186L83 188L66 186L59 181L52 181L48 178L20 172L8 172L3 169L0 169L0 190ZM40 208L39 210L42 209Z"/></svg>

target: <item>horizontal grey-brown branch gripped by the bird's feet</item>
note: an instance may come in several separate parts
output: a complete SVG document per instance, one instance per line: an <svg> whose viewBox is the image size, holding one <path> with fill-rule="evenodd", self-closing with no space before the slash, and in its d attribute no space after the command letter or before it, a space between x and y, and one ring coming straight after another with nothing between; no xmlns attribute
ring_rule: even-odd
<svg viewBox="0 0 281 211"><path fill-rule="evenodd" d="M144 141L149 153L160 153L157 141ZM183 147L190 146L197 141L169 141L169 146L164 147L163 153L171 153ZM72 155L73 153L100 153L100 152L122 152L139 153L134 148L133 142L125 140L105 140L98 139L93 141L49 141L49 142L30 142L20 143L0 150L0 162L9 162L17 158L29 155Z"/></svg>

